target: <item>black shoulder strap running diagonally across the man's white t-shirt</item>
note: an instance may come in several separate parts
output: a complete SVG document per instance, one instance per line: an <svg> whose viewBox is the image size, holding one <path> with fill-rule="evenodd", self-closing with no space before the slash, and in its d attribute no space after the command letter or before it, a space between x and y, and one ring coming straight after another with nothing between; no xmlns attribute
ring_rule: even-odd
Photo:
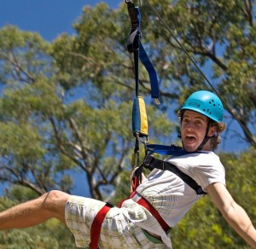
<svg viewBox="0 0 256 249"><path fill-rule="evenodd" d="M170 162L166 162L161 159L155 159L153 156L147 155L143 160L143 165L150 171L154 169L160 169L162 171L172 171L172 173L183 179L183 182L186 182L191 188L193 188L196 194L207 194L202 190L201 186L198 185L192 177L189 177L183 171L180 171L176 165L173 165Z"/></svg>

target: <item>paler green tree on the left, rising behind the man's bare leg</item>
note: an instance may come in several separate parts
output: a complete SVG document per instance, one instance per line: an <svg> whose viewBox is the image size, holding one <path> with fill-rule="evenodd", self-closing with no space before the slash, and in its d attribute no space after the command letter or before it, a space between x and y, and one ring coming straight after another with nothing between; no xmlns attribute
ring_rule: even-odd
<svg viewBox="0 0 256 249"><path fill-rule="evenodd" d="M4 27L0 37L4 84L0 180L38 194L53 188L70 193L70 171L79 170L92 197L109 197L119 184L119 173L131 169L131 90L109 82L104 77L107 71L98 72L92 81L80 64L71 63L70 72L63 70L57 60L62 51L76 45L67 44L71 38L57 38L50 45L38 34L12 26ZM76 53L72 51L69 56ZM99 55L94 54L91 61ZM67 57L65 66L68 61ZM102 61L101 67L113 61ZM166 128L167 134L172 125L158 113L155 107L148 108L148 116L157 117L155 125L161 123L152 130L159 133Z"/></svg>

